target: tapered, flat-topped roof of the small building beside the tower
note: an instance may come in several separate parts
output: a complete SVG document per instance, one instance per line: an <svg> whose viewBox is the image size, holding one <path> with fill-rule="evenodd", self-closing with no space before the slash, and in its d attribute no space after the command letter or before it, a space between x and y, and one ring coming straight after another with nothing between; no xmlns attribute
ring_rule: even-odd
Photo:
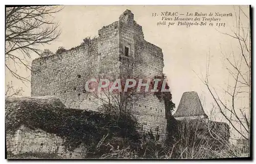
<svg viewBox="0 0 256 164"><path fill-rule="evenodd" d="M174 117L205 116L201 101L197 92L184 92Z"/></svg>

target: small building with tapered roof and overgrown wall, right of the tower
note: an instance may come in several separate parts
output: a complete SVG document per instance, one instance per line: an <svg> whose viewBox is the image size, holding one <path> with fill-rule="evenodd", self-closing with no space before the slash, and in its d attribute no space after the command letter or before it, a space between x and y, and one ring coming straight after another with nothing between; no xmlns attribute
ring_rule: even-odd
<svg viewBox="0 0 256 164"><path fill-rule="evenodd" d="M179 123L187 124L189 129L195 128L192 126L197 126L198 138L220 140L222 143L218 144L228 143L230 138L228 124L210 121L195 91L183 93L173 116Z"/></svg>

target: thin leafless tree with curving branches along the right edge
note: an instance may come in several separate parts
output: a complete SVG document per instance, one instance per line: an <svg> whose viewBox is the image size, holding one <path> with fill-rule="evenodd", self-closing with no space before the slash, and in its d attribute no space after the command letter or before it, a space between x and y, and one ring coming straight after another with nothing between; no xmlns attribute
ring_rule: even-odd
<svg viewBox="0 0 256 164"><path fill-rule="evenodd" d="M229 126L249 142L251 100L250 21L249 16L240 6L234 8L234 15L236 18L236 25L233 26L234 30L222 34L237 41L238 47L236 49L232 48L231 55L227 55L221 50L228 71L227 76L231 77L232 80L226 84L225 89L222 88L223 92L218 92L215 87L212 87L209 81L209 58L207 59L206 76L205 78L199 78L207 87L219 112L229 123ZM224 98L221 95L224 95ZM247 103L240 103L242 99Z"/></svg>

